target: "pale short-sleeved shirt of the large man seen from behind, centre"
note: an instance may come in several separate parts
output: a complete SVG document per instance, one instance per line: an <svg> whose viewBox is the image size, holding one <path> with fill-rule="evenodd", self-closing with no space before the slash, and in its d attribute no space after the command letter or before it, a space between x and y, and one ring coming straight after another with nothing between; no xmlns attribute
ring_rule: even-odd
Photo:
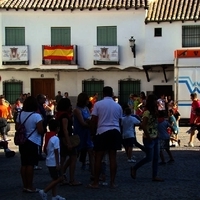
<svg viewBox="0 0 200 200"><path fill-rule="evenodd" d="M108 130L120 131L119 120L122 118L122 108L112 97L104 97L94 104L92 115L98 117L97 135Z"/></svg>

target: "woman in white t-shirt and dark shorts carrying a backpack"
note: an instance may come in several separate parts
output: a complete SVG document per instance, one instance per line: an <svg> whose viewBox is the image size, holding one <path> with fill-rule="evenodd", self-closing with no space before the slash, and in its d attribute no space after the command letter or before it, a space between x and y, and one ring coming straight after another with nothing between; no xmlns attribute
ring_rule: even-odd
<svg viewBox="0 0 200 200"><path fill-rule="evenodd" d="M34 165L38 159L38 147L41 146L41 135L43 133L42 117L37 113L37 100L30 96L23 104L22 112L17 116L16 126L19 122L23 123L27 118L24 126L26 127L25 144L19 146L21 155L21 178L24 192L38 192L33 188Z"/></svg>

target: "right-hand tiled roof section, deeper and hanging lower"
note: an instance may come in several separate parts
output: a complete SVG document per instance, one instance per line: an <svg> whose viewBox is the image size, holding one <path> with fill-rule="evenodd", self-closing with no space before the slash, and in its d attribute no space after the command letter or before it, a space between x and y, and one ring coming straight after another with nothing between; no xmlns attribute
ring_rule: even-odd
<svg viewBox="0 0 200 200"><path fill-rule="evenodd" d="M200 19L200 0L151 0L146 23L197 21Z"/></svg>

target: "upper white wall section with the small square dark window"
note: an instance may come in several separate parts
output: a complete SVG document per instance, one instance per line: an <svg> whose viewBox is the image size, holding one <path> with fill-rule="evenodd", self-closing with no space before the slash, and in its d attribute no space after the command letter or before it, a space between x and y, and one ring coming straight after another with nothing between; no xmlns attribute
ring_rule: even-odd
<svg viewBox="0 0 200 200"><path fill-rule="evenodd" d="M182 26L200 25L200 22L162 22L145 25L144 65L173 64L174 51L182 48ZM162 28L162 37L154 37L154 28Z"/></svg>

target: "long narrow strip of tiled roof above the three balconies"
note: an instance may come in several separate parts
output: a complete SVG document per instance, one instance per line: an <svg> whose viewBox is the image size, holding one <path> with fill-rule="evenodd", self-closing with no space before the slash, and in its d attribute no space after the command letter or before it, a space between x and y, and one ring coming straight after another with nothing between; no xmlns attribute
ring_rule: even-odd
<svg viewBox="0 0 200 200"><path fill-rule="evenodd" d="M148 0L0 0L0 9L75 10L147 8Z"/></svg>

